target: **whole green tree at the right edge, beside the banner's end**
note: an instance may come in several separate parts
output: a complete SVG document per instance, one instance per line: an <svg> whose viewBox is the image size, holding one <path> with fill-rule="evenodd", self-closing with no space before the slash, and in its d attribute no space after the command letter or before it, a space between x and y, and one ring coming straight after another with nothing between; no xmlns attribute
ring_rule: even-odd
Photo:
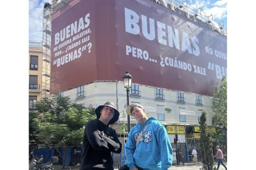
<svg viewBox="0 0 256 170"><path fill-rule="evenodd" d="M215 139L226 142L227 79L225 76L221 79L220 86L215 88L211 110L213 113L213 125L223 126L223 128L216 129Z"/></svg>

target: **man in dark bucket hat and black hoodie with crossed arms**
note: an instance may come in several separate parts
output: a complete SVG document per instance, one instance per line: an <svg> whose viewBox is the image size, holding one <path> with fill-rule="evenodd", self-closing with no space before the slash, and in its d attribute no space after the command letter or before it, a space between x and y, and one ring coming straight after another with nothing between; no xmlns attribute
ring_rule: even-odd
<svg viewBox="0 0 256 170"><path fill-rule="evenodd" d="M83 135L80 170L114 169L111 152L121 153L122 144L116 130L109 127L119 119L114 103L106 102L95 110L97 119L88 121Z"/></svg>

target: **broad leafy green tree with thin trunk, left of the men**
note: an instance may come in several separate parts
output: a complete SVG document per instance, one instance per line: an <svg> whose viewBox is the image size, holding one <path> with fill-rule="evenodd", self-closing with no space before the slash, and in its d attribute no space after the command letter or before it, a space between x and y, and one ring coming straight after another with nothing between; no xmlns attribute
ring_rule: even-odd
<svg viewBox="0 0 256 170"><path fill-rule="evenodd" d="M33 132L38 140L45 144L55 142L64 147L64 169L67 147L82 144L85 125L90 119L95 119L96 115L94 110L72 103L69 97L56 94L52 99L44 98L36 103L36 109L30 111L30 117L30 126L35 129Z"/></svg>

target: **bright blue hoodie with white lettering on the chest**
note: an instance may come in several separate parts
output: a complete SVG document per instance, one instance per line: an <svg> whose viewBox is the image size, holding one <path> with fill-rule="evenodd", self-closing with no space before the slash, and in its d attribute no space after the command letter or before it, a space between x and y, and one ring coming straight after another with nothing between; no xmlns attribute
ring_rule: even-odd
<svg viewBox="0 0 256 170"><path fill-rule="evenodd" d="M136 140L144 126L143 136L136 148ZM173 148L166 128L158 120L150 117L143 124L137 123L128 134L125 145L126 164L130 169L135 165L143 169L167 170L173 162Z"/></svg>

